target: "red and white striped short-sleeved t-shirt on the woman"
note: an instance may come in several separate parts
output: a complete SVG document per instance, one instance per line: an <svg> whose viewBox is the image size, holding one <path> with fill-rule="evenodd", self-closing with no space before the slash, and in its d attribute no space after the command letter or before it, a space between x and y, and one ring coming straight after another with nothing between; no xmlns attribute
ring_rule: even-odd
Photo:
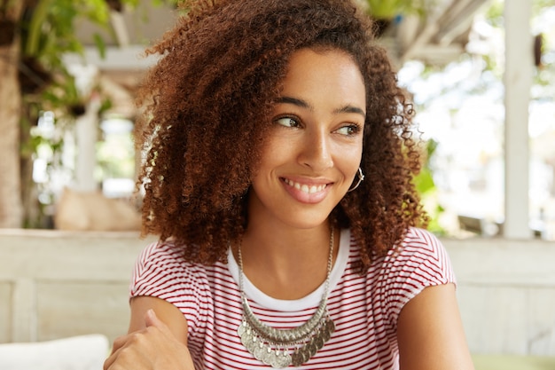
<svg viewBox="0 0 555 370"><path fill-rule="evenodd" d="M433 234L411 229L399 253L377 259L361 276L354 271L359 248L343 230L330 277L328 311L335 332L300 369L398 369L395 335L405 303L429 286L455 282L449 256ZM317 309L324 284L288 301L265 295L244 279L256 317L272 327L298 327ZM137 260L131 296L150 295L173 303L189 325L188 345L196 369L269 367L255 359L237 333L242 318L238 264L185 262L179 248L154 243Z"/></svg>

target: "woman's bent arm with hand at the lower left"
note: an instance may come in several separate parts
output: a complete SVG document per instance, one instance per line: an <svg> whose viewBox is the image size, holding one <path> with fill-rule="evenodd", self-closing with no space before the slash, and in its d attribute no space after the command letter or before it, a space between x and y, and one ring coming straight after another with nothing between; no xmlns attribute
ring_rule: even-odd
<svg viewBox="0 0 555 370"><path fill-rule="evenodd" d="M193 370L184 315L159 298L132 298L129 334L113 342L104 369Z"/></svg>

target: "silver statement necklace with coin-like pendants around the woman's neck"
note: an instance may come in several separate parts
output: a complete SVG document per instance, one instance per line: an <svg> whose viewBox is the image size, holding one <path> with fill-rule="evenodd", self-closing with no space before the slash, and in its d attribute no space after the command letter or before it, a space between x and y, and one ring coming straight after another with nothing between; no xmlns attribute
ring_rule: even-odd
<svg viewBox="0 0 555 370"><path fill-rule="evenodd" d="M300 327L293 329L277 329L264 324L254 316L246 299L243 288L243 259L241 246L238 248L239 287L243 305L243 319L237 332L241 342L254 358L266 365L282 368L290 365L301 366L324 347L335 324L327 311L327 297L330 287L330 274L333 260L333 228L330 235L330 256L328 257L327 274L324 282L324 294L317 311Z"/></svg>

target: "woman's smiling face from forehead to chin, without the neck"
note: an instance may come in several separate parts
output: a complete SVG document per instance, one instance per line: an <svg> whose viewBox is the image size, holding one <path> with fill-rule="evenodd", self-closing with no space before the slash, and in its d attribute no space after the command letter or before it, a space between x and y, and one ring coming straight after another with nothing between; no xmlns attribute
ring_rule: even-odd
<svg viewBox="0 0 555 370"><path fill-rule="evenodd" d="M365 113L363 76L346 52L295 51L253 179L249 219L322 224L356 176Z"/></svg>

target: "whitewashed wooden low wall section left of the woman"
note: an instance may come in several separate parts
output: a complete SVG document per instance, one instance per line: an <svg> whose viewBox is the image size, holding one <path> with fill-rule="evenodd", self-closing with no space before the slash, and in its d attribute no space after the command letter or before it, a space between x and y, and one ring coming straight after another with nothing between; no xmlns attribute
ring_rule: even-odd
<svg viewBox="0 0 555 370"><path fill-rule="evenodd" d="M127 332L137 232L0 231L0 342Z"/></svg>

